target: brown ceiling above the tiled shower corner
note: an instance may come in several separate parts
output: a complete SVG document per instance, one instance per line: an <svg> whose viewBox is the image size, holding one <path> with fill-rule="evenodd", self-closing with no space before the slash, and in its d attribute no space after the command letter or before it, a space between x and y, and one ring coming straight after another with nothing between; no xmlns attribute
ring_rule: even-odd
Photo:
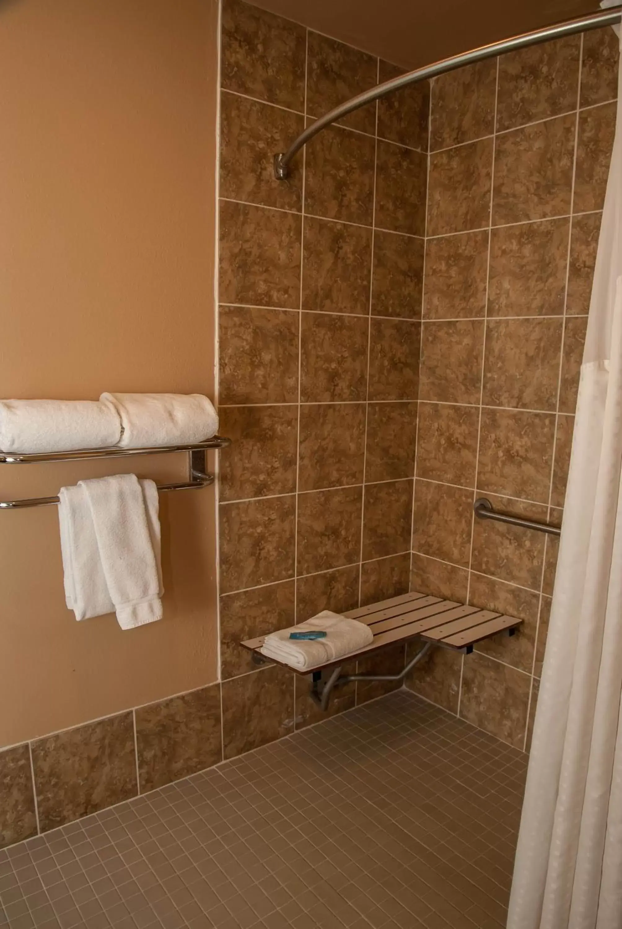
<svg viewBox="0 0 622 929"><path fill-rule="evenodd" d="M251 2L408 69L600 9L598 0Z"/></svg>

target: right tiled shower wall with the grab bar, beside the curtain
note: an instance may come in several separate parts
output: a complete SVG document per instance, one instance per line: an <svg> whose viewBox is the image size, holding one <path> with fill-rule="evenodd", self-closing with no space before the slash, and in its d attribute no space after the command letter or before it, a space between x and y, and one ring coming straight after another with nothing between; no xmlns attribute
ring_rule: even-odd
<svg viewBox="0 0 622 929"><path fill-rule="evenodd" d="M523 748L558 542L615 130L609 28L484 61L431 89L412 589L523 619L408 686Z"/></svg>

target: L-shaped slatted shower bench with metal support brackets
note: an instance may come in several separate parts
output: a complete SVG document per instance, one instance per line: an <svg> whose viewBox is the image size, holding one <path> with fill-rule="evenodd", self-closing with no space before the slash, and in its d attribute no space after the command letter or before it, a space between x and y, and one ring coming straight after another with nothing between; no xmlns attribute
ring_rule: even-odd
<svg viewBox="0 0 622 929"><path fill-rule="evenodd" d="M284 661L276 661L262 655L259 649L263 645L263 635L247 639L241 644L253 653L253 660L258 664L270 662L280 664L301 676L311 674L311 696L325 710L335 687L351 681L404 680L405 675L427 655L430 648L451 648L454 651L470 654L477 642L500 632L514 635L517 627L523 622L513 616L505 616L503 613L496 613L490 609L468 607L455 603L453 600L443 600L439 596L417 593L393 596L390 600L372 603L368 607L351 609L349 613L343 615L359 622L366 622L374 634L374 641L338 661L331 661L315 668L298 671L297 668L292 668ZM419 638L424 644L400 674L341 674L341 666L346 661L366 657L381 648L413 638ZM325 680L323 680L324 672L330 672Z"/></svg>

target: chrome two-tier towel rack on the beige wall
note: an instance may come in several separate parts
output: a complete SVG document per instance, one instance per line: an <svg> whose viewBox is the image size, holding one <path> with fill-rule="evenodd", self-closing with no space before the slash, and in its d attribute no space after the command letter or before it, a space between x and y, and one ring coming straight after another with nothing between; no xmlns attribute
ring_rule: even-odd
<svg viewBox="0 0 622 929"><path fill-rule="evenodd" d="M194 444L163 445L141 449L78 449L76 451L52 451L48 454L12 454L0 451L0 464L41 464L43 462L86 461L93 458L126 458L129 455L157 455L166 451L188 452L188 480L175 484L158 484L158 491L197 491L214 483L214 476L205 472L205 452L224 449L231 445L231 438L214 436L205 442ZM58 504L59 497L29 497L26 500L0 500L0 510L19 510L29 506Z"/></svg>

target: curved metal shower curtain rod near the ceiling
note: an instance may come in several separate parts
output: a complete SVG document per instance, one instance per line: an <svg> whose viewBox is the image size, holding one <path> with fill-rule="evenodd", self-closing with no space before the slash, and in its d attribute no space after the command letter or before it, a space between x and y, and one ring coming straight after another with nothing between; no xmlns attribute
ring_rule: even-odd
<svg viewBox="0 0 622 929"><path fill-rule="evenodd" d="M376 87L370 87L362 94L346 100L334 110L331 110L315 120L308 126L304 132L300 133L289 148L283 152L274 155L274 177L277 180L285 180L289 177L289 164L292 158L302 149L311 138L322 132L327 125L336 123L342 116L347 116L359 107L364 107L366 103L372 103L381 97L386 97L393 90L400 90L409 84L417 84L417 81L425 81L427 78L436 77L438 74L444 74L447 71L454 71L456 68L462 68L464 65L473 64L475 61L482 61L487 58L495 58L502 52L516 51L526 46L535 46L540 42L549 42L550 39L559 39L565 35L574 35L575 33L585 33L589 29L598 29L602 26L615 26L620 22L622 16L622 7L611 7L606 12L591 13L589 16L582 16L577 20L568 20L560 22L554 26L547 26L545 29L536 29L533 33L523 33L515 35L511 39L504 39L502 42L494 42L489 46L474 48L470 52L463 52L455 55L453 58L437 61L435 64L426 65L425 68L417 68L416 71L410 71L394 77L384 84L378 84Z"/></svg>

